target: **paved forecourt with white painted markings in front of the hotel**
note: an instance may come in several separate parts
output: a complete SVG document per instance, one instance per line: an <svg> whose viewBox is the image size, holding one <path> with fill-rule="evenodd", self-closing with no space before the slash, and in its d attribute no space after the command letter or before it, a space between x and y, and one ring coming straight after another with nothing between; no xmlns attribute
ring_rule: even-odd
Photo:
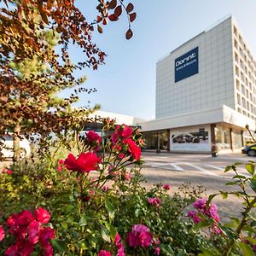
<svg viewBox="0 0 256 256"><path fill-rule="evenodd" d="M235 175L234 172L224 172L225 167L236 162L243 163L237 168L242 175L248 175L245 164L256 157L243 154L223 154L212 157L210 154L172 154L143 152L144 165L142 174L146 178L146 186L154 183L169 183L172 187L170 193L176 192L183 183L190 183L191 187L198 185L206 189L205 196L216 194L219 190L230 192L238 189L227 186ZM252 192L252 190L250 190ZM253 192L252 192L253 193ZM229 221L229 215L241 217L242 204L236 196L230 195L223 200L221 196L214 198L219 213L224 221Z"/></svg>

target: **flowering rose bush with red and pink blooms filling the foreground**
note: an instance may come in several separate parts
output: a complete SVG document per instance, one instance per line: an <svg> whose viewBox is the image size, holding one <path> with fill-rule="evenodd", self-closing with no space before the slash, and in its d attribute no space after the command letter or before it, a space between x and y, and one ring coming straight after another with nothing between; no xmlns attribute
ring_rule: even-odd
<svg viewBox="0 0 256 256"><path fill-rule="evenodd" d="M142 134L110 119L103 123L103 138L87 131L78 139L74 132L73 140L68 135L40 160L15 163L1 174L0 254L253 253L253 194L234 192L245 197L246 212L241 222L232 218L236 225L225 226L212 203L216 195L205 198L201 187L184 184L172 195L168 183L145 189ZM250 165L251 177L236 175L241 189L247 182L254 189Z"/></svg>

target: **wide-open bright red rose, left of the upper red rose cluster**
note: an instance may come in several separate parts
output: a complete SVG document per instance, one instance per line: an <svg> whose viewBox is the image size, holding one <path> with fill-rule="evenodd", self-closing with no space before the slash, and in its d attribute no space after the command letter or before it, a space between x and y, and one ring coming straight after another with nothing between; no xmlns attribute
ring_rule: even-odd
<svg viewBox="0 0 256 256"><path fill-rule="evenodd" d="M100 157L97 157L95 153L81 153L76 160L73 154L68 154L64 164L68 170L78 172L90 172L99 168L99 163L102 162Z"/></svg>

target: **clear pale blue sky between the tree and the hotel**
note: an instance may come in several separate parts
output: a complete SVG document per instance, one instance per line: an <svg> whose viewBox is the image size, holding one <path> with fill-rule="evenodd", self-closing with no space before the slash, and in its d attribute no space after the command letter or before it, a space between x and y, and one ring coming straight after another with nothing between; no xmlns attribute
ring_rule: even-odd
<svg viewBox="0 0 256 256"><path fill-rule="evenodd" d="M97 92L81 95L77 106L99 103L102 110L154 119L155 64L189 38L226 15L234 15L247 44L256 55L256 0L131 0L137 12L133 38L125 40L126 16L94 33L93 40L108 57L106 65L83 70L86 87ZM97 1L79 0L86 17L96 17ZM129 3L129 1L125 1ZM72 49L75 61L81 53ZM67 92L65 92L65 95Z"/></svg>

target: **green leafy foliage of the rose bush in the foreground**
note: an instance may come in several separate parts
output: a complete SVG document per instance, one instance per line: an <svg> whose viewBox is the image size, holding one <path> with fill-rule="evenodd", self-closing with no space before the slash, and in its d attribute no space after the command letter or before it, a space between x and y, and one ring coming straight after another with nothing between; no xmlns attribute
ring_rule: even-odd
<svg viewBox="0 0 256 256"><path fill-rule="evenodd" d="M154 255L156 249L160 255L173 256L253 255L256 245L253 161L246 165L247 176L236 171L241 163L228 166L226 172L235 172L228 185L236 189L210 195L204 206L210 207L218 195L223 199L236 195L243 199L241 218L230 215L230 222L221 224L201 211L198 212L200 221L194 224L186 215L190 205L202 197L204 189L191 188L189 183L172 194L162 184L145 188L140 174L142 160L137 158L141 134L125 125L115 128L109 119L104 123L103 131L107 134L104 143L100 143L95 133L93 142L88 138L74 142L78 134L66 133L54 145L45 147L40 159L16 162L11 166L12 174L1 174L0 225L5 230L8 230L6 220L12 213L44 207L51 215L50 227L55 229L51 245L56 255L97 255L102 249L114 255L118 252L117 234L126 255ZM121 134L128 134L137 154L132 154L125 144L127 138ZM74 164L67 171L63 161L58 163L67 157L67 149L78 155L95 150L102 163L95 167L96 172L79 172ZM132 247L127 240L137 224L150 230L152 241L148 247ZM3 252L13 242L7 233L1 241Z"/></svg>

